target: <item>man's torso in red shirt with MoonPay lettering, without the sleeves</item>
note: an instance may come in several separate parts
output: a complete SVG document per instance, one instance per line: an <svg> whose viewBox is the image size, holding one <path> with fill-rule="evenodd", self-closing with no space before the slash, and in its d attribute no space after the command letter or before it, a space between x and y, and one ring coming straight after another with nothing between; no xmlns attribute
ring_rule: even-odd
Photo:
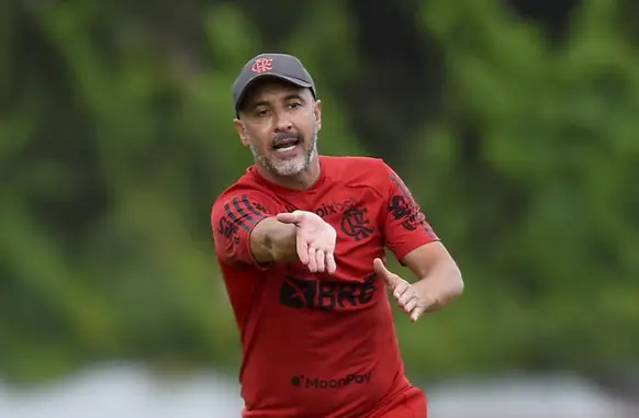
<svg viewBox="0 0 639 418"><path fill-rule="evenodd" d="M311 211L334 226L335 275L312 274L300 263L267 271L222 266L239 314L245 417L363 417L411 387L385 285L372 268L384 255L383 192L366 169L347 172L361 171L357 161L322 158L324 174L312 190L257 181L270 196L268 213Z"/></svg>

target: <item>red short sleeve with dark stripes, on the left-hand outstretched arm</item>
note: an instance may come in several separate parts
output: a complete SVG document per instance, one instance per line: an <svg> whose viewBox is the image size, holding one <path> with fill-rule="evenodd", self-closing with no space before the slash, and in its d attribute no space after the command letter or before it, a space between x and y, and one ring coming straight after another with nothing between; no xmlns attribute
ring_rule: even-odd
<svg viewBox="0 0 639 418"><path fill-rule="evenodd" d="M221 195L211 211L217 258L227 263L265 268L253 256L250 233L257 224L271 216L272 211L272 200L257 191L236 191Z"/></svg>

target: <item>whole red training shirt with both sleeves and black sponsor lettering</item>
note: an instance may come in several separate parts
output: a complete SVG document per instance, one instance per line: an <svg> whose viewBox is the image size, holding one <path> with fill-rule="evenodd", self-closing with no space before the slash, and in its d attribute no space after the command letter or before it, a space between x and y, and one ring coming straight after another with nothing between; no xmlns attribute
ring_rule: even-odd
<svg viewBox="0 0 639 418"><path fill-rule="evenodd" d="M251 166L213 204L211 224L239 327L245 418L372 417L411 386L385 283L373 259L438 240L400 177L381 159L320 156L309 190L264 179ZM311 211L337 231L337 272L259 266L250 231L280 212Z"/></svg>

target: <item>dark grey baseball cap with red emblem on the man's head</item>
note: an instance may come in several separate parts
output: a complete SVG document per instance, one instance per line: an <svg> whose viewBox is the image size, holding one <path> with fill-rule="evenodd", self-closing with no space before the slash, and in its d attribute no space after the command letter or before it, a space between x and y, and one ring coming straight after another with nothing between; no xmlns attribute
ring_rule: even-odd
<svg viewBox="0 0 639 418"><path fill-rule="evenodd" d="M311 89L315 97L315 82L298 58L287 54L260 54L244 65L233 83L233 104L235 113L239 112L250 86L258 79L272 77Z"/></svg>

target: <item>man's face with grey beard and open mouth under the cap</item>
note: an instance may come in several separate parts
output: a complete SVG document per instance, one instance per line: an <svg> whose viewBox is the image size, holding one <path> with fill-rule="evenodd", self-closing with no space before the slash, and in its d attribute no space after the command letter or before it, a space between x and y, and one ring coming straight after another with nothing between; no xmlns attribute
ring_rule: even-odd
<svg viewBox="0 0 639 418"><path fill-rule="evenodd" d="M311 90L279 80L254 86L235 127L256 163L277 176L305 171L317 155L321 103Z"/></svg>

